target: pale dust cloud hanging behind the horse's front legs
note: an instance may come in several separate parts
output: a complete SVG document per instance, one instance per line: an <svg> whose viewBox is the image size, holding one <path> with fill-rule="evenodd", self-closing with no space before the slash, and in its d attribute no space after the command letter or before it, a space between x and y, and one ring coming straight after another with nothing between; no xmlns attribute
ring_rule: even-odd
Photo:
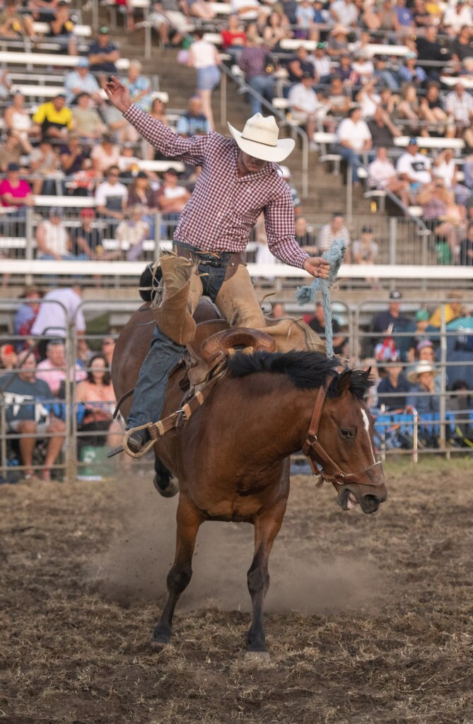
<svg viewBox="0 0 473 724"><path fill-rule="evenodd" d="M127 486L117 483L122 527L93 560L88 579L104 597L127 605L135 599L163 602L175 552L177 496L161 497L151 473ZM208 522L198 533L193 578L179 610L217 606L251 610L246 571L253 557L254 529L245 523ZM379 591L379 572L353 560L317 563L304 539L276 539L269 559L271 584L265 610L307 615L361 608ZM376 584L374 581L377 581Z"/></svg>

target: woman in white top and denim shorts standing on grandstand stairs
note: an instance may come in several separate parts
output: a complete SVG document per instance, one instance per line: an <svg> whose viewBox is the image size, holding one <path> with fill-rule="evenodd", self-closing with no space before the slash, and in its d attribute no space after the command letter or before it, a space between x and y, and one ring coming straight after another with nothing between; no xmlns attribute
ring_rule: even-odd
<svg viewBox="0 0 473 724"><path fill-rule="evenodd" d="M189 66L197 72L197 93L202 101L202 111L209 121L210 130L215 130L214 114L212 112L212 90L220 83L219 58L217 48L208 41L204 41L204 30L194 30L194 38L189 49ZM133 101L133 98L132 98Z"/></svg>

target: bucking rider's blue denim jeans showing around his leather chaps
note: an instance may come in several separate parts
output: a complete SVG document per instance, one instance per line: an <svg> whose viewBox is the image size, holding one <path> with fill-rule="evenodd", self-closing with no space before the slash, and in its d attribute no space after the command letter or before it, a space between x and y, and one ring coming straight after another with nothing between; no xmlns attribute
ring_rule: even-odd
<svg viewBox="0 0 473 724"><path fill-rule="evenodd" d="M214 302L225 281L230 254L220 253L219 258L222 265L214 266L216 263L214 254L198 252L189 244L186 246L201 260L197 273L204 275L201 277L204 294ZM209 261L212 264L208 264ZM144 425L147 422L156 422L161 418L169 372L180 361L184 350L183 345L177 345L176 342L169 339L156 324L151 349L141 366L135 385L133 404L127 418L127 429Z"/></svg>

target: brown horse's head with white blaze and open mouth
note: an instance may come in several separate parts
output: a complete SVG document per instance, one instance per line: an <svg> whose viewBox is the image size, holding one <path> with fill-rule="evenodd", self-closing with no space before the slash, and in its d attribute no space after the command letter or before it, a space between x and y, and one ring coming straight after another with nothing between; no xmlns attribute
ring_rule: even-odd
<svg viewBox="0 0 473 724"><path fill-rule="evenodd" d="M332 482L338 492L338 505L350 510L361 505L364 513L374 513L388 493L381 463L374 450L373 418L363 400L369 387L369 371L346 370L330 383L327 396L319 392L319 424L306 454L317 462L322 479Z"/></svg>

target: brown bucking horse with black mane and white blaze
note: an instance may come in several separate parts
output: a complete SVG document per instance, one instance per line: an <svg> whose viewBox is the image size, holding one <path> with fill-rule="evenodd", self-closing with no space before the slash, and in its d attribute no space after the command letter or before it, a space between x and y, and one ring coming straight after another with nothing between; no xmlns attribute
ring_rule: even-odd
<svg viewBox="0 0 473 724"><path fill-rule="evenodd" d="M112 363L117 398L135 384L152 332L151 325L141 325L150 319L147 311L135 313L117 341ZM166 644L172 634L175 605L191 581L201 523L242 521L253 523L255 531L247 651L264 656L263 600L269 553L288 501L289 456L304 449L322 479L334 484L343 510L359 503L364 513L373 513L387 494L363 401L369 374L317 352L237 352L227 364L204 405L180 432L167 433L155 446L179 480L180 497L168 599L153 641ZM169 379L164 415L180 408L179 376L175 372Z"/></svg>

